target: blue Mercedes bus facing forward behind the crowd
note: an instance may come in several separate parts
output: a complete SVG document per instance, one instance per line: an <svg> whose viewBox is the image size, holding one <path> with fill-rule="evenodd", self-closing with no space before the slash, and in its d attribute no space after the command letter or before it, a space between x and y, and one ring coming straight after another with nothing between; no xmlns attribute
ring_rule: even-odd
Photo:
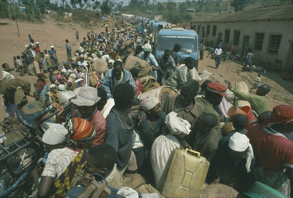
<svg viewBox="0 0 293 198"><path fill-rule="evenodd" d="M199 36L194 30L171 28L155 32L154 56L158 59L161 54L164 54L166 49L172 50L176 43L181 45L181 50L178 52L179 64L184 64L187 57L192 57L196 60L197 69Z"/></svg>

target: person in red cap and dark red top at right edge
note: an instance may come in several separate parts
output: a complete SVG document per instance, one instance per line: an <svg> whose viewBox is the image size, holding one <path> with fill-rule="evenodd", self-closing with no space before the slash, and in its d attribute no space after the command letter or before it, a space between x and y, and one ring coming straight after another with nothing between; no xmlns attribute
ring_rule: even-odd
<svg viewBox="0 0 293 198"><path fill-rule="evenodd" d="M255 180L290 197L293 181L293 142L284 134L293 131L293 106L278 105L270 119L253 124L247 132L257 164L252 170Z"/></svg>

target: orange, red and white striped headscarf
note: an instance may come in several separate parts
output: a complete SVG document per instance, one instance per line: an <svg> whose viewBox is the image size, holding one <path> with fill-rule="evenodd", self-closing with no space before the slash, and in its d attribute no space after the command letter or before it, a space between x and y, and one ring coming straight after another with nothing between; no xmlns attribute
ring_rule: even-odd
<svg viewBox="0 0 293 198"><path fill-rule="evenodd" d="M93 125L81 118L72 118L68 122L69 137L72 140L92 139L96 135Z"/></svg>

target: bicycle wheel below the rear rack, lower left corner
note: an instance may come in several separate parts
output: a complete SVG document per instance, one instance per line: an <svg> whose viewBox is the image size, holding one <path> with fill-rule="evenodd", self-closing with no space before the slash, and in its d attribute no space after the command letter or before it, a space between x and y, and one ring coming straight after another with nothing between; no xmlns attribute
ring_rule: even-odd
<svg viewBox="0 0 293 198"><path fill-rule="evenodd" d="M21 183L25 182L32 169L39 160L40 147L32 143L14 155L0 161L0 180L4 180L0 187L0 197L7 197L19 190ZM27 189L26 189L27 190Z"/></svg>

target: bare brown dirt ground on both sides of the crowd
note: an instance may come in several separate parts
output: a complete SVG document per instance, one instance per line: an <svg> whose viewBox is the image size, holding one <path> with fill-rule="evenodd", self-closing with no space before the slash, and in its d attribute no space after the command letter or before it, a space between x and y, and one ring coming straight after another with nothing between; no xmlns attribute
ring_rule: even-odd
<svg viewBox="0 0 293 198"><path fill-rule="evenodd" d="M35 41L40 43L41 50L49 50L51 45L55 46L59 61L66 61L66 49L65 39L69 40L72 50L79 48L79 43L86 36L86 33L93 30L95 34L104 31L103 27L81 27L79 24L73 23L62 23L57 24L56 21L45 21L43 23L27 23L18 22L21 37L18 37L18 31L16 22L13 20L0 20L0 22L8 22L8 25L0 26L0 64L6 62L13 67L13 56L21 55L24 50L24 45L28 43L28 34L32 36ZM111 30L111 28L110 28ZM80 42L75 39L75 32L80 33ZM207 51L206 51L207 52ZM219 69L215 69L214 59L206 58L207 53L205 52L204 60L199 60L199 72L208 70L211 73L222 74L226 79L230 79L232 83L236 80L243 79L247 85L251 87L251 82L257 76L256 72L240 72L243 62L233 61L230 63L221 62ZM16 77L27 79L31 81L33 92L33 83L36 82L37 78L25 75L19 77L18 73L15 73ZM268 110L279 104L290 104L293 105L293 83L289 81L283 81L277 74L262 74L262 83L267 83L272 86L272 91L268 95ZM254 92L251 92L254 94ZM28 97L29 101L33 98ZM0 98L0 103L3 99ZM0 118L3 118L5 112L0 107Z"/></svg>

